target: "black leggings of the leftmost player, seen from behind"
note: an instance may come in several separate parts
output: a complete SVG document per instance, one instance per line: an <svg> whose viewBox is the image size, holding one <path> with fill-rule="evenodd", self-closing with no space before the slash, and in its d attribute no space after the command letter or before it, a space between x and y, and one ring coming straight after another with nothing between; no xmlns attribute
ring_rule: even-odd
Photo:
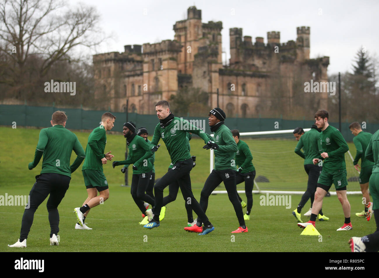
<svg viewBox="0 0 379 278"><path fill-rule="evenodd" d="M20 241L28 238L28 234L33 224L34 213L41 203L50 194L47 200L47 211L49 212L50 237L59 232L59 213L58 205L61 203L71 178L67 175L56 173L44 173L36 176L36 182L30 190L28 208L25 208L22 216L20 231Z"/></svg>

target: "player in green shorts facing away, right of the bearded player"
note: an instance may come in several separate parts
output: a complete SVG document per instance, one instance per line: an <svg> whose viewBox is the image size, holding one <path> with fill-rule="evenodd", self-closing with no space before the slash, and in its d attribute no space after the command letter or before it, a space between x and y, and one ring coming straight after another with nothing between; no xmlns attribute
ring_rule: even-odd
<svg viewBox="0 0 379 278"><path fill-rule="evenodd" d="M366 159L365 152L366 152L368 143L370 142L370 139L373 135L369 132L363 132L358 122L351 123L349 126L349 129L351 130L351 133L355 136L353 138L353 142L357 149L357 154L356 154L356 157L354 158L353 165L357 171L359 171L359 168L360 168L359 185L360 185L360 190L362 191L362 195L365 198L364 200L366 200L364 210L362 212L357 212L356 216L366 217L366 214L368 211L367 207L368 207L368 204L370 203L370 195L368 194L368 181L370 180L374 163ZM361 162L360 166L358 164L359 159Z"/></svg>

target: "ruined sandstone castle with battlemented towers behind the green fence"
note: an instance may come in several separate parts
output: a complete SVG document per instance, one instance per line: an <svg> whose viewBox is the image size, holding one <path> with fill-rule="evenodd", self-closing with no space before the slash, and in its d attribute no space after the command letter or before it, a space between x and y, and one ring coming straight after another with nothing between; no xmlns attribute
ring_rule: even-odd
<svg viewBox="0 0 379 278"><path fill-rule="evenodd" d="M123 53L93 56L96 93L104 93L113 111L155 113L154 104L168 100L183 86L208 93L209 107L228 116L256 117L274 103L296 108L305 81L327 82L329 57L309 59L310 27L298 27L296 42L280 43L280 32L263 37L243 36L230 28L229 65L222 64L222 22L201 22L201 10L188 8L188 18L174 25L174 40L125 45ZM296 80L302 76L295 86ZM309 96L311 99L314 98ZM316 107L327 109L327 95Z"/></svg>

